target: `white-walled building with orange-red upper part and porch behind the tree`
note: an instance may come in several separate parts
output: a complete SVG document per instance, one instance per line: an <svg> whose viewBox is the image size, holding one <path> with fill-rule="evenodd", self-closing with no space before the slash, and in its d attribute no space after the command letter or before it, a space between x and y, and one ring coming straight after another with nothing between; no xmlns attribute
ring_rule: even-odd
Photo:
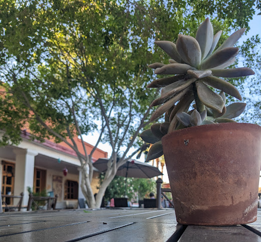
<svg viewBox="0 0 261 242"><path fill-rule="evenodd" d="M43 143L32 141L26 130L22 132L22 138L23 141L18 146L0 148L2 193L19 195L24 192L23 206L26 206L30 187L34 192L46 190L58 194L57 208L77 207L78 198L84 198L84 195L80 187L80 161L76 152L64 142L56 144L50 140ZM80 144L81 141L76 137L75 142ZM80 152L83 152L83 147L79 147L82 148ZM93 148L86 142L85 147L89 153ZM93 161L107 157L107 152L97 148ZM92 181L94 193L97 192L98 181L99 173L95 171Z"/></svg>

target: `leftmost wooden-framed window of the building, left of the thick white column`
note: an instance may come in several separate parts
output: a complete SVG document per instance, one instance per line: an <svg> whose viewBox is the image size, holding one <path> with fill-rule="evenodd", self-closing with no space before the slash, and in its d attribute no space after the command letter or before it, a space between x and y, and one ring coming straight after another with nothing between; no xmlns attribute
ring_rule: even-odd
<svg viewBox="0 0 261 242"><path fill-rule="evenodd" d="M2 193L5 195L14 195L14 184L15 184L15 164L2 161L3 165L3 183L2 183ZM6 197L6 203L13 204L13 198Z"/></svg>

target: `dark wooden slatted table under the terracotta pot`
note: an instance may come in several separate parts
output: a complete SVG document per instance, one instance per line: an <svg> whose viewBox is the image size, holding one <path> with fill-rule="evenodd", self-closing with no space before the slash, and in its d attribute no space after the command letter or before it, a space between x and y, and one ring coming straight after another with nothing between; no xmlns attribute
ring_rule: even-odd
<svg viewBox="0 0 261 242"><path fill-rule="evenodd" d="M104 208L0 214L0 241L244 241L261 242L256 222L235 226L183 226L173 209Z"/></svg>

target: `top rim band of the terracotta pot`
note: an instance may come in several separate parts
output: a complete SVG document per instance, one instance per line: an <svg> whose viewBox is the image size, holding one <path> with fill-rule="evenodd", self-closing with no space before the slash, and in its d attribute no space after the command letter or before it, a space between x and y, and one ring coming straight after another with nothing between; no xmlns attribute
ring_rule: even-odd
<svg viewBox="0 0 261 242"><path fill-rule="evenodd" d="M251 123L218 123L218 124L205 124L205 125L199 125L199 126L192 126L184 129L179 129L179 130L174 130L173 132L166 134L162 137L162 140L167 139L169 136L172 135L182 135L182 133L192 133L194 130L202 130L207 131L207 130L218 130L218 129L252 129L261 132L261 126L258 124L251 124Z"/></svg>

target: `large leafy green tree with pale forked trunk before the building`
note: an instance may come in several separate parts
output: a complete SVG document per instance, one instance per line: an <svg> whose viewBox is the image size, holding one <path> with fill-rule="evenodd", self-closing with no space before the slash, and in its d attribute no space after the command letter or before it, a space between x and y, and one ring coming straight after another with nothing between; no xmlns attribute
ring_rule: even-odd
<svg viewBox="0 0 261 242"><path fill-rule="evenodd" d="M19 142L12 127L19 131L23 122L33 138L66 142L81 162L81 188L89 206L99 207L118 167L139 150L137 136L149 123L153 97L148 101L145 87L153 73L147 66L168 60L154 49L154 40L175 42L178 33L195 33L205 16L214 18L214 32L222 29L225 38L231 29L248 28L253 4L242 5L239 0L2 1L0 71L5 93L0 128L5 133L0 142ZM94 130L100 138L93 151L80 153L73 138L79 136L83 144L82 135ZM95 199L91 161L100 141L110 143L112 154ZM127 156L133 146L137 150Z"/></svg>

